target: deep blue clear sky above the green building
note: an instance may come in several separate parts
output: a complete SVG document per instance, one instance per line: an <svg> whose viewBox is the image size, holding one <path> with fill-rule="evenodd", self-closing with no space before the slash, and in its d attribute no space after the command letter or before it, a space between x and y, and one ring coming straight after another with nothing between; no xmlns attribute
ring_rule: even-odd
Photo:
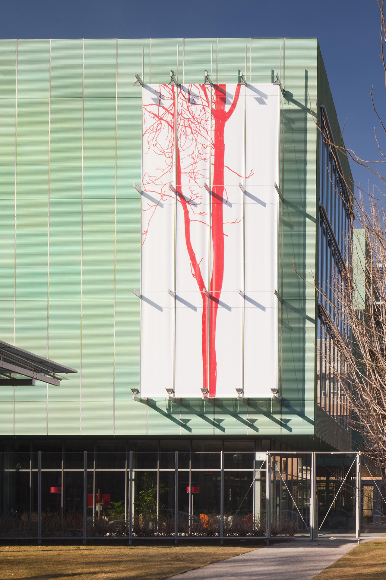
<svg viewBox="0 0 386 580"><path fill-rule="evenodd" d="M318 37L341 125L347 117L346 146L361 157L379 157L370 102L374 84L383 113L377 0L2 0L0 5L1 38L251 36ZM355 165L352 170L367 189L372 177Z"/></svg>

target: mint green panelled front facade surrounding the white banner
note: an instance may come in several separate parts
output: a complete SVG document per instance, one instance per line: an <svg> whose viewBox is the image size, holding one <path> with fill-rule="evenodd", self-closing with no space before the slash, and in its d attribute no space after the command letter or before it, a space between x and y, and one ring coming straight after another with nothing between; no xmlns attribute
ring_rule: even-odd
<svg viewBox="0 0 386 580"><path fill-rule="evenodd" d="M281 98L277 401L139 403L145 83L275 81ZM0 41L0 333L78 369L2 387L0 436L274 438L350 447L315 399L319 106L340 130L317 39ZM341 160L345 172L347 161ZM300 277L297 276L296 271ZM306 280L304 281L303 280ZM310 283L307 283L310 282Z"/></svg>

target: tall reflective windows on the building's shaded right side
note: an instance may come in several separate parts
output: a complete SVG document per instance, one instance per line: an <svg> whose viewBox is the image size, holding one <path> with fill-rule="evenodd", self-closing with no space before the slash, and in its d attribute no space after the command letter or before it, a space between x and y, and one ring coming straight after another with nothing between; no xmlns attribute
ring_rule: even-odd
<svg viewBox="0 0 386 580"><path fill-rule="evenodd" d="M347 380L346 365L333 343L331 326L337 325L342 334L350 332L341 298L345 273L351 268L351 198L324 110L320 122L317 403L347 429L347 397L341 388Z"/></svg>

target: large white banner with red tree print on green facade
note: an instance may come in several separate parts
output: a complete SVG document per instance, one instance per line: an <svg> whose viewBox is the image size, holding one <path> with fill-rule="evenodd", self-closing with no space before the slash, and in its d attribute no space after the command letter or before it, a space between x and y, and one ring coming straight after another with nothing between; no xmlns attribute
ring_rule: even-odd
<svg viewBox="0 0 386 580"><path fill-rule="evenodd" d="M271 396L279 110L275 85L144 86L142 396Z"/></svg>

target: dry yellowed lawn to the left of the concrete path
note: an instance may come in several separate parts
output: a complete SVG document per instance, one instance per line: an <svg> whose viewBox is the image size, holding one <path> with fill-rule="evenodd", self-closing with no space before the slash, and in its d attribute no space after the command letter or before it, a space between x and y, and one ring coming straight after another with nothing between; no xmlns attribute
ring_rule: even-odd
<svg viewBox="0 0 386 580"><path fill-rule="evenodd" d="M0 546L0 578L161 580L251 552L257 547L259 546Z"/></svg>

